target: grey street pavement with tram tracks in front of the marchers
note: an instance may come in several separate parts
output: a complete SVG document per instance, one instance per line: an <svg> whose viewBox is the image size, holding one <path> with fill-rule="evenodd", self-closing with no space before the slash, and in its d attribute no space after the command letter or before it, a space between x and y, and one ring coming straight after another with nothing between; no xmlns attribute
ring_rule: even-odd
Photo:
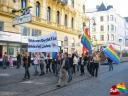
<svg viewBox="0 0 128 96"><path fill-rule="evenodd" d="M101 65L99 76L90 77L77 73L67 86L57 88L57 77L49 73L44 76L34 76L33 66L30 69L31 79L23 81L24 69L0 69L0 96L109 96L112 85L128 82L127 62L114 65L113 71L108 71L107 65Z"/></svg>

